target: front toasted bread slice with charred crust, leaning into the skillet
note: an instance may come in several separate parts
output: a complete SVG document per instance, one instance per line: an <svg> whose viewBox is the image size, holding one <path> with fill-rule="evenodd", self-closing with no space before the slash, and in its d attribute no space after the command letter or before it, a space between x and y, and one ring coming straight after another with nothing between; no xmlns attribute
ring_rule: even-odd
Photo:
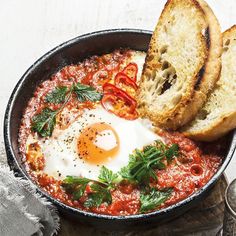
<svg viewBox="0 0 236 236"><path fill-rule="evenodd" d="M137 93L141 116L177 129L195 117L221 69L219 23L203 0L169 0L147 52Z"/></svg>

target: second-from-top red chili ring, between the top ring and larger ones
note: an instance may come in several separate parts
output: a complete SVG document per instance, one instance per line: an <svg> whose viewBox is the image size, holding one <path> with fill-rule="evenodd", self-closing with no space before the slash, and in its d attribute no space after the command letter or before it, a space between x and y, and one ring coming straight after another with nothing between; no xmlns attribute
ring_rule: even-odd
<svg viewBox="0 0 236 236"><path fill-rule="evenodd" d="M130 90L130 88L134 91L138 89L138 85L135 83L135 81L130 79L123 72L116 74L115 85L121 89L125 89L127 92ZM130 92L132 92L132 90Z"/></svg>

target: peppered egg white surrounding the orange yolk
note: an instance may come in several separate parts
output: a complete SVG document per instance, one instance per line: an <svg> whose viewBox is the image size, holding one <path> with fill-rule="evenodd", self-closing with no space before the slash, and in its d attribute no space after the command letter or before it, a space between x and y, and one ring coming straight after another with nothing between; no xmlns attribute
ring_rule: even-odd
<svg viewBox="0 0 236 236"><path fill-rule="evenodd" d="M39 140L45 157L43 172L56 179L63 179L67 175L97 179L102 165L91 164L79 158L77 138L85 127L98 122L105 122L112 126L120 140L117 155L102 164L114 172L128 164L129 154L136 148L142 148L153 143L154 140L160 139L142 119L125 120L107 112L101 106L91 110L85 109L82 116L67 129L57 131L56 136ZM104 149L112 148L114 137L109 135L100 137L98 145Z"/></svg>

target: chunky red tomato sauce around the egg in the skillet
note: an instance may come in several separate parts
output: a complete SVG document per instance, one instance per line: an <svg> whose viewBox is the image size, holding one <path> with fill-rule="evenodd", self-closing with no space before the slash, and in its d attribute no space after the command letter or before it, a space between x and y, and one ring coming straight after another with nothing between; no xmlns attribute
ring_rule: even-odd
<svg viewBox="0 0 236 236"><path fill-rule="evenodd" d="M86 200L86 194L89 193L90 189L86 188L85 195L79 201L73 200L72 196L61 187L60 180L37 171L38 167L42 169L42 158L37 159L35 157L31 163L27 160L26 141L31 132L31 119L44 108L46 94L56 86L70 86L73 82L81 82L92 85L99 90L104 83L124 68L123 64L129 60L130 55L130 50L117 50L108 55L93 56L78 65L63 67L49 80L44 81L38 86L23 114L22 125L19 131L19 147L26 170L44 191L71 207L88 211L88 209L83 207L83 202ZM50 104L51 109L56 109L57 106ZM92 102L78 104L76 99L72 98L67 108L75 108L75 114L78 114L83 108L92 108L93 106ZM180 148L180 156L167 165L166 169L156 172L158 181L154 187L173 188L171 197L158 207L160 209L187 198L204 186L216 173L222 159L216 152L211 150L209 152L203 151L203 149L207 149L207 145L210 147L212 144L204 144L203 148L201 143L185 138L180 133L159 131L158 134L164 138L167 144L176 143ZM219 147L219 144L215 145ZM221 146L219 150L221 150ZM90 208L89 211L107 215L138 214L140 208L140 189L137 186L123 181L112 191L111 195L112 203L110 205L103 203L100 207Z"/></svg>

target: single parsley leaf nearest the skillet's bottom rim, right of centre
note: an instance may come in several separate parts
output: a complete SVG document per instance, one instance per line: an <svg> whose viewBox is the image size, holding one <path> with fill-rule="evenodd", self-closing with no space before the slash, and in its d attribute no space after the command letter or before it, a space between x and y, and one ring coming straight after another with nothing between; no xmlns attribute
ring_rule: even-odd
<svg viewBox="0 0 236 236"><path fill-rule="evenodd" d="M165 189L163 191L152 188L149 193L140 194L140 212L144 213L155 209L157 206L164 203L171 195L172 188Z"/></svg>

